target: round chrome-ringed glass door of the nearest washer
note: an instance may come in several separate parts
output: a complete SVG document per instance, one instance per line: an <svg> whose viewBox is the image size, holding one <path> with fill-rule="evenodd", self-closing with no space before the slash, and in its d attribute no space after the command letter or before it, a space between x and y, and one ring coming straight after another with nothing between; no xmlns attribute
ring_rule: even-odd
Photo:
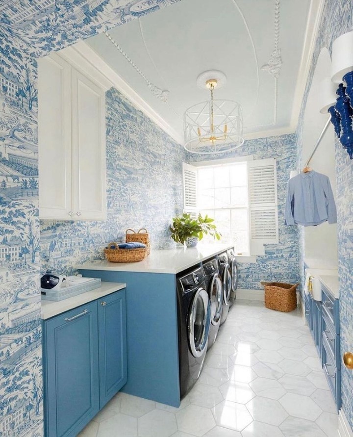
<svg viewBox="0 0 353 437"><path fill-rule="evenodd" d="M208 294L199 288L191 303L189 313L189 346L194 357L201 357L207 349L207 339L211 323L211 308Z"/></svg>

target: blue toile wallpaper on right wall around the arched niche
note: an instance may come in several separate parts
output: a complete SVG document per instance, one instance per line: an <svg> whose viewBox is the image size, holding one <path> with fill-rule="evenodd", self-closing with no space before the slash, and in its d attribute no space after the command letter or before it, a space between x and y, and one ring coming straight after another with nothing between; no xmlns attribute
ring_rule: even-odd
<svg viewBox="0 0 353 437"><path fill-rule="evenodd" d="M345 32L353 30L353 2L329 0L325 7L315 45L311 69L306 84L301 116L297 131L298 167L301 162L303 141L303 114L320 51ZM330 129L333 128L331 127ZM341 355L353 351L353 162L339 141L336 141L338 276L340 294ZM303 253L303 250L301 251ZM342 409L353 430L353 373L341 364Z"/></svg>

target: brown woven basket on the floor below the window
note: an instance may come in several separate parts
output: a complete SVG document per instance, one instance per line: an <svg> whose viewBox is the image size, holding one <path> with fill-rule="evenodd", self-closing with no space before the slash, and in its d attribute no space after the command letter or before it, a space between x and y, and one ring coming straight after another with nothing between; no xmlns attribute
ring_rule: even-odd
<svg viewBox="0 0 353 437"><path fill-rule="evenodd" d="M261 282L265 287L265 307L289 312L297 308L296 289L299 284Z"/></svg>

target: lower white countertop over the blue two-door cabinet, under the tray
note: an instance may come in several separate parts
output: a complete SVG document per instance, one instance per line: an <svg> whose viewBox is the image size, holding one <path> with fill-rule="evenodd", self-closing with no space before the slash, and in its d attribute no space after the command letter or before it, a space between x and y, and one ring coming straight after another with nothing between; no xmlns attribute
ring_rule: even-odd
<svg viewBox="0 0 353 437"><path fill-rule="evenodd" d="M85 293L78 294L77 296L64 299L59 302L42 300L42 319L49 319L62 312L69 311L70 309L79 307L80 305L87 304L96 299L100 299L107 294L114 293L115 291L125 288L126 284L116 282L102 282L100 288L95 290L86 291Z"/></svg>

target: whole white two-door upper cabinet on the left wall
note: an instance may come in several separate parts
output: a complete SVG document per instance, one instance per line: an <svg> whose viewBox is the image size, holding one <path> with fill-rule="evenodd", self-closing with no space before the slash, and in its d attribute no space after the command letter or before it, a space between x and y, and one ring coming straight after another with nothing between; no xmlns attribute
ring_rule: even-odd
<svg viewBox="0 0 353 437"><path fill-rule="evenodd" d="M56 53L38 61L39 214L104 220L105 90Z"/></svg>

